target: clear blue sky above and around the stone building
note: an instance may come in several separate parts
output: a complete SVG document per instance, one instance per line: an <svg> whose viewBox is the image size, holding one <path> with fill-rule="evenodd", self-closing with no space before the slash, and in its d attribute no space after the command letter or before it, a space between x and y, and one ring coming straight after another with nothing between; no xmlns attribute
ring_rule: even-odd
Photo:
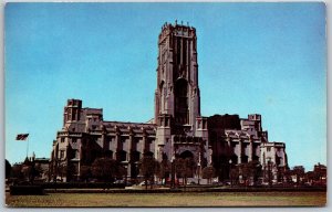
<svg viewBox="0 0 332 212"><path fill-rule="evenodd" d="M6 158L50 157L63 107L80 98L105 120L154 115L157 36L197 30L201 114L262 115L290 167L326 163L323 3L8 3Z"/></svg>

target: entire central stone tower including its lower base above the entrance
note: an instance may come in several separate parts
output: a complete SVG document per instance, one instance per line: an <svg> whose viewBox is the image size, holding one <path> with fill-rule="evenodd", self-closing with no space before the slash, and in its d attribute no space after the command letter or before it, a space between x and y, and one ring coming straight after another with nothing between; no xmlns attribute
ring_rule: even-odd
<svg viewBox="0 0 332 212"><path fill-rule="evenodd" d="M207 119L200 116L196 29L165 23L158 38L155 92L156 158L207 158ZM205 160L207 161L207 160Z"/></svg>

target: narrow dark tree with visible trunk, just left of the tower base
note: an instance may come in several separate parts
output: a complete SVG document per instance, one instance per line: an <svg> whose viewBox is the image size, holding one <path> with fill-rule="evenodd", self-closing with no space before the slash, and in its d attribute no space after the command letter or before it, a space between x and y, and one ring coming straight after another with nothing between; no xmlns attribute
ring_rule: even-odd
<svg viewBox="0 0 332 212"><path fill-rule="evenodd" d="M151 156L144 156L139 161L139 171L144 176L145 189L147 189L147 181L151 180L151 187L154 182L154 174L159 171L159 163Z"/></svg>

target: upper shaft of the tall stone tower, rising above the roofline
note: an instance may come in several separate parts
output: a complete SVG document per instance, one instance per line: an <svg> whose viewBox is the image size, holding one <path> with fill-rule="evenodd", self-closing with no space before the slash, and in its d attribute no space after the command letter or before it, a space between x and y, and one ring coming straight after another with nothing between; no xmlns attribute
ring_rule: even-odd
<svg viewBox="0 0 332 212"><path fill-rule="evenodd" d="M195 131L200 116L196 29L165 24L158 39L157 89L155 93L155 123L159 115L173 117L180 130Z"/></svg>

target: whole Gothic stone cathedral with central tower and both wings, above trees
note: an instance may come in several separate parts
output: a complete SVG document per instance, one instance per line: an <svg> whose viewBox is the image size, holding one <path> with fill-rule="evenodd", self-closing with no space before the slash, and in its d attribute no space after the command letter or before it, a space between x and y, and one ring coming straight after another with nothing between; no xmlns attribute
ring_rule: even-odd
<svg viewBox="0 0 332 212"><path fill-rule="evenodd" d="M98 157L111 157L127 170L127 178L139 174L144 156L156 160L193 158L199 171L214 166L220 180L228 179L230 165L259 162L263 168L286 168L283 142L269 142L261 116L200 114L196 29L165 23L158 36L155 115L148 123L108 121L102 108L82 107L69 99L63 127L56 134L51 153L51 172L64 167L65 181L80 178L81 166ZM71 174L69 174L72 172ZM71 179L72 178L72 179Z"/></svg>

